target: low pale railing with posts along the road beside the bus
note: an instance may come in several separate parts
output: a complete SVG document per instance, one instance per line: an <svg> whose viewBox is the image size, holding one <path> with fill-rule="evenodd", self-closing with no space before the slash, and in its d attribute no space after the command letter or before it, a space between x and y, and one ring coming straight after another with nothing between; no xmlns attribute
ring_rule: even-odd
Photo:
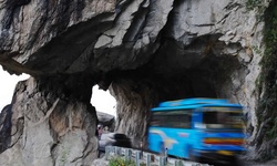
<svg viewBox="0 0 277 166"><path fill-rule="evenodd" d="M208 164L171 158L165 155L156 155L140 149L106 146L105 159L109 160L112 157L124 157L125 160L134 160L135 166L140 166L141 164L146 166L211 166Z"/></svg>

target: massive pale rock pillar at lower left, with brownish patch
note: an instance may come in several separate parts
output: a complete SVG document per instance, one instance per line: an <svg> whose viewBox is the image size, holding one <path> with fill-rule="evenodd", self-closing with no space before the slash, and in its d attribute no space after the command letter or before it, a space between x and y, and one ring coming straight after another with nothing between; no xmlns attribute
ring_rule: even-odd
<svg viewBox="0 0 277 166"><path fill-rule="evenodd" d="M7 141L0 165L91 165L98 157L95 108L40 87L32 77L19 82L8 114L1 113L9 126L0 129Z"/></svg>

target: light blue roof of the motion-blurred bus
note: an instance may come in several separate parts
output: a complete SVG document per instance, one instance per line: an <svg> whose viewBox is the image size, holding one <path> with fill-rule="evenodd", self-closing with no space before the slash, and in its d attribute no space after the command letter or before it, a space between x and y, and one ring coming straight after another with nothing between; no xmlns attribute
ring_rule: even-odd
<svg viewBox="0 0 277 166"><path fill-rule="evenodd" d="M166 111L166 110L183 110L183 108L197 108L197 107L243 107L240 104L228 103L227 100L222 98L187 98L178 101L162 102L158 107L151 111Z"/></svg>

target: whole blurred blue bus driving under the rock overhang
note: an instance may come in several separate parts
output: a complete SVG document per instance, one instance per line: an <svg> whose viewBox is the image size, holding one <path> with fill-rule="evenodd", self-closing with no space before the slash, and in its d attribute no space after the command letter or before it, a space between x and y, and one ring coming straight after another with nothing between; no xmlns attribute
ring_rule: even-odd
<svg viewBox="0 0 277 166"><path fill-rule="evenodd" d="M220 98L163 102L151 110L148 149L199 162L234 159L245 151L243 106Z"/></svg>

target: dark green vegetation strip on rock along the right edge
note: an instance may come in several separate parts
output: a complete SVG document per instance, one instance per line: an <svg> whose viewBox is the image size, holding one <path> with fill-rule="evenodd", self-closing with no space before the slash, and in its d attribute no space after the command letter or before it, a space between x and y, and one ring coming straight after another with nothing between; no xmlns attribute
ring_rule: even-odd
<svg viewBox="0 0 277 166"><path fill-rule="evenodd" d="M265 21L264 43L265 50L260 61L261 72L257 81L258 100L257 118L259 132L256 137L256 144L261 146L266 142L273 142L277 137L277 2L271 1L265 11L265 4L261 0L248 0L247 9L256 10L257 17L260 13ZM260 159L266 160L273 157L271 152L263 151Z"/></svg>

